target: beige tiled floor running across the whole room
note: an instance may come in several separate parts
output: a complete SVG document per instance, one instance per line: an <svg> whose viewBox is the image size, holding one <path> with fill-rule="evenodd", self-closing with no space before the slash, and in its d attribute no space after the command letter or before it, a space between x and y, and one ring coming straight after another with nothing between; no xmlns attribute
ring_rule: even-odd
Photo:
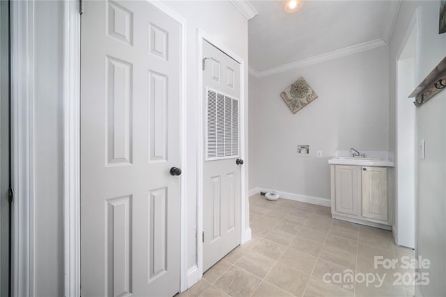
<svg viewBox="0 0 446 297"><path fill-rule="evenodd" d="M414 296L413 286L394 284L394 273L413 271L374 268L374 256L413 257L391 232L333 219L330 208L314 204L261 195L249 202L252 240L179 296ZM348 276L353 281L337 281Z"/></svg>

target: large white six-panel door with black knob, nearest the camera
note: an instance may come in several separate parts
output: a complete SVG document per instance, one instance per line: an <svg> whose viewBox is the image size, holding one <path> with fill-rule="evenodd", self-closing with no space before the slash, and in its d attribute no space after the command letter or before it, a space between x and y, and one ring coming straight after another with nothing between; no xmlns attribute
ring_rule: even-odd
<svg viewBox="0 0 446 297"><path fill-rule="evenodd" d="M84 297L180 288L180 30L147 1L84 3Z"/></svg>

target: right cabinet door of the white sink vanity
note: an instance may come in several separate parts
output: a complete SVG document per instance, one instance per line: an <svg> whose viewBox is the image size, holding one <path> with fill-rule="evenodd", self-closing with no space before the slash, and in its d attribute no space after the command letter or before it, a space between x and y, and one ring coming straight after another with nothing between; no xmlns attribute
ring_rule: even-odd
<svg viewBox="0 0 446 297"><path fill-rule="evenodd" d="M387 221L387 169L362 167L362 216Z"/></svg>

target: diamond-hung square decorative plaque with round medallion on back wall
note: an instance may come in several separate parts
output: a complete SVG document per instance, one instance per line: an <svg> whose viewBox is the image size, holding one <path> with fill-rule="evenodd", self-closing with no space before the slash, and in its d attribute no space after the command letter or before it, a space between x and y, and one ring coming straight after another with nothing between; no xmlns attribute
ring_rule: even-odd
<svg viewBox="0 0 446 297"><path fill-rule="evenodd" d="M314 93L314 90L309 86L307 81L303 77L300 77L280 93L280 97L284 99L284 102L288 105L292 113L297 113L300 109L307 106L309 102L316 99L318 95Z"/></svg>

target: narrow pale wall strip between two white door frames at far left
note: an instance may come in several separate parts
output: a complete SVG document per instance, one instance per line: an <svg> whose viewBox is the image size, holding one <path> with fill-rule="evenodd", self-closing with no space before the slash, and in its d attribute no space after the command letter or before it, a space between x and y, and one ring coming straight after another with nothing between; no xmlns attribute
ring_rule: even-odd
<svg viewBox="0 0 446 297"><path fill-rule="evenodd" d="M34 9L34 295L63 296L63 2Z"/></svg>

